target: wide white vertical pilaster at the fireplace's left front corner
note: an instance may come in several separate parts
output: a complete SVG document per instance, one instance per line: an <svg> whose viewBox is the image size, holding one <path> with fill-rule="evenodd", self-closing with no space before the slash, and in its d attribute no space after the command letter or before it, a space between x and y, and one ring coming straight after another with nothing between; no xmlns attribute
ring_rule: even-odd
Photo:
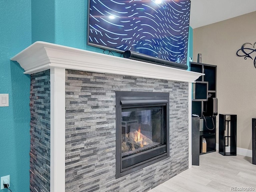
<svg viewBox="0 0 256 192"><path fill-rule="evenodd" d="M65 191L65 69L50 69L50 191Z"/></svg>

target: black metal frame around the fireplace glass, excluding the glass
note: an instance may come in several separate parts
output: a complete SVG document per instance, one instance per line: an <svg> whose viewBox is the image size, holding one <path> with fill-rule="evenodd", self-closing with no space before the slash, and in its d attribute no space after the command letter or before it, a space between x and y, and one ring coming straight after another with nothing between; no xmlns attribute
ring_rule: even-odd
<svg viewBox="0 0 256 192"><path fill-rule="evenodd" d="M150 149L153 153L161 151L162 154L156 157L152 157L148 160L144 160L129 168L122 169L122 149L121 149L121 114L122 108L126 106L139 106L139 107L151 107L151 106L164 106L166 110L164 112L164 126L166 145L159 146ZM120 178L127 174L130 174L136 170L164 160L170 157L170 136L169 136L169 93L168 92L128 92L128 91L116 91L116 178ZM148 150L147 152L149 152ZM144 152L139 153L142 157ZM136 154L137 155L137 154Z"/></svg>

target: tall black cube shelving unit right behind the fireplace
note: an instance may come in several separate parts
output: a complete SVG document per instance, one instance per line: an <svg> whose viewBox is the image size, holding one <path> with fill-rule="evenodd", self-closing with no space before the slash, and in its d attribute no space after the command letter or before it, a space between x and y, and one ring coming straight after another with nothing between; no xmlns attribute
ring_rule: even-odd
<svg viewBox="0 0 256 192"><path fill-rule="evenodd" d="M206 140L206 153L214 152L216 151L216 116L204 116L203 114L206 110L208 97L216 98L217 66L190 62L190 70L205 74L200 76L192 86L192 114L197 114L200 118L203 118L204 122L203 130L199 133L199 154L204 154L204 152L202 152L203 138Z"/></svg>

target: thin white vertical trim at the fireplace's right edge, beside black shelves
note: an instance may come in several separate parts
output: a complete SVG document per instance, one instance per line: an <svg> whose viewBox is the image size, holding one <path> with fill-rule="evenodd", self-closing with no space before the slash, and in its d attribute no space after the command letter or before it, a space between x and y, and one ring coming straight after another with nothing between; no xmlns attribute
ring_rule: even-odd
<svg viewBox="0 0 256 192"><path fill-rule="evenodd" d="M188 168L192 167L192 83L188 83Z"/></svg>

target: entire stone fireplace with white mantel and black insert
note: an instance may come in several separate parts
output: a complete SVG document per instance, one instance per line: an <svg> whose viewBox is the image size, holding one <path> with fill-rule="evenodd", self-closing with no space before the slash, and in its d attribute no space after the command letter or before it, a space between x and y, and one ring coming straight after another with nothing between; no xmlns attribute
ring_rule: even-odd
<svg viewBox="0 0 256 192"><path fill-rule="evenodd" d="M31 75L32 191L148 191L191 166L202 74L45 42L12 60Z"/></svg>

